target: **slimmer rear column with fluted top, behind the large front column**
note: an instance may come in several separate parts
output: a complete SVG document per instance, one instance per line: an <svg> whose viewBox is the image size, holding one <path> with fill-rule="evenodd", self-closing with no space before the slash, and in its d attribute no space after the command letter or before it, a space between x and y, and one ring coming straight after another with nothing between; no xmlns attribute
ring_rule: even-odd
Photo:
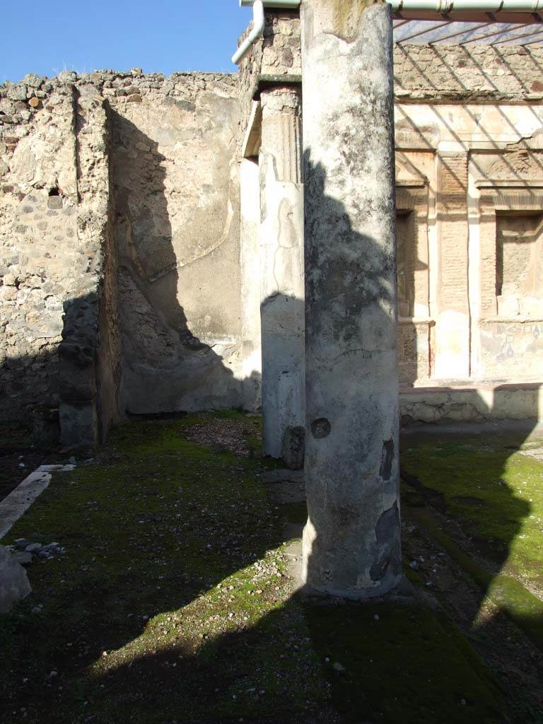
<svg viewBox="0 0 543 724"><path fill-rule="evenodd" d="M264 452L280 458L304 424L301 100L292 86L261 93L261 330Z"/></svg>

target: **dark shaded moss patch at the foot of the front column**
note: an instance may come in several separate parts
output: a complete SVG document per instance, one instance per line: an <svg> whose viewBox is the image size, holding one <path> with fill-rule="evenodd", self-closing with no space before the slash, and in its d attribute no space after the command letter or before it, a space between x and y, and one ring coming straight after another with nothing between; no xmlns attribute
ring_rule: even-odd
<svg viewBox="0 0 543 724"><path fill-rule="evenodd" d="M445 617L389 603L313 608L308 620L347 722L504 720L502 694Z"/></svg>

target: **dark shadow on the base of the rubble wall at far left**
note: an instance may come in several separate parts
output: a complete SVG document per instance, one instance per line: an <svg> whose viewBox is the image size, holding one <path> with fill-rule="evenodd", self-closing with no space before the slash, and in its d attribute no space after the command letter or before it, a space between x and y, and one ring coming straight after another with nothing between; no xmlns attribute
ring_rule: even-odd
<svg viewBox="0 0 543 724"><path fill-rule="evenodd" d="M33 430L37 450L92 449L119 418L119 361L95 292L64 301L62 340L0 366L1 418Z"/></svg>

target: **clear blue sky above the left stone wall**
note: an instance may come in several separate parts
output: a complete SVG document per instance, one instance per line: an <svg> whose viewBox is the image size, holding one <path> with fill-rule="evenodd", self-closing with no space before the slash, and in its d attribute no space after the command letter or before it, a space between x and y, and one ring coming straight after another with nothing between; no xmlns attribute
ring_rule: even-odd
<svg viewBox="0 0 543 724"><path fill-rule="evenodd" d="M252 17L237 0L9 0L2 6L0 83L29 72L103 68L232 72L237 38Z"/></svg>

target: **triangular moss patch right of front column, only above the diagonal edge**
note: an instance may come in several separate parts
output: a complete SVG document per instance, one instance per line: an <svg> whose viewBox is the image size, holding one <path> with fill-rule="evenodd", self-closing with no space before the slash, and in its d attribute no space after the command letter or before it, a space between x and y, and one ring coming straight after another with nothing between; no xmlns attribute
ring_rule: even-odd
<svg viewBox="0 0 543 724"><path fill-rule="evenodd" d="M427 440L405 450L402 465L442 494L503 573L543 589L543 462L518 452L540 447L508 435Z"/></svg>

